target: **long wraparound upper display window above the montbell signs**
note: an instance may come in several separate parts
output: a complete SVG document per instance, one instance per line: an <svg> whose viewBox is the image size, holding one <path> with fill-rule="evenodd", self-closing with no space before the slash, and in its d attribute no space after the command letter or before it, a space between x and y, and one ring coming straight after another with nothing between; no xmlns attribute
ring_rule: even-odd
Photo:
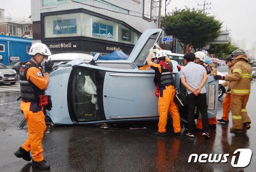
<svg viewBox="0 0 256 172"><path fill-rule="evenodd" d="M86 13L46 16L44 22L45 38L84 36L135 44L139 37L120 23Z"/></svg>

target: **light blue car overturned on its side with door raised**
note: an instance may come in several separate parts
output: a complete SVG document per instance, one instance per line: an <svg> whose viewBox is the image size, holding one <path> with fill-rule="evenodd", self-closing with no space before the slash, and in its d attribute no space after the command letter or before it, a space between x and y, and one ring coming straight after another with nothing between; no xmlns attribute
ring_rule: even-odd
<svg viewBox="0 0 256 172"><path fill-rule="evenodd" d="M158 97L155 96L154 70L139 70L145 65L149 49L162 29L148 29L137 41L128 60L76 59L50 73L46 91L53 108L47 115L55 124L102 123L158 120ZM175 61L176 87L180 79ZM218 81L208 77L206 84L208 116L217 114ZM184 120L184 119L183 119ZM184 120L186 121L186 120Z"/></svg>

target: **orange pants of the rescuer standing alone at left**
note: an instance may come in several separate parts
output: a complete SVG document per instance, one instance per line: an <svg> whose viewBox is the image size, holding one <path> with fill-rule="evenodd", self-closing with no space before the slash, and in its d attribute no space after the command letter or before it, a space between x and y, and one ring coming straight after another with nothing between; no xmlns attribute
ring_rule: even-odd
<svg viewBox="0 0 256 172"><path fill-rule="evenodd" d="M31 154L34 161L42 161L43 158L43 148L42 148L42 139L44 131L46 130L46 124L44 121L43 111L32 112L32 111L23 111L24 116L27 121L28 126L28 138L21 146L26 151L31 150Z"/></svg>

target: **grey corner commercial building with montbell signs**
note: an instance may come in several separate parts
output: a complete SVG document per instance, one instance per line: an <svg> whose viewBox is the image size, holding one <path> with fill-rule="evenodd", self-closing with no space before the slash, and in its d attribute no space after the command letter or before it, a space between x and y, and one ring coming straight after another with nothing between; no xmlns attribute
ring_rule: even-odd
<svg viewBox="0 0 256 172"><path fill-rule="evenodd" d="M144 30L157 28L153 4L157 5L151 0L33 0L32 43L48 45L53 54L130 54Z"/></svg>

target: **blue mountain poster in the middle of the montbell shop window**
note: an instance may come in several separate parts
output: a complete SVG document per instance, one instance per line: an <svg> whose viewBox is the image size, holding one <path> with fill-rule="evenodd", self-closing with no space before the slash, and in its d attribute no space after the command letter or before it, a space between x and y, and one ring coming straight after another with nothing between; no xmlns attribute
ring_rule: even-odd
<svg viewBox="0 0 256 172"><path fill-rule="evenodd" d="M113 38L113 26L97 23L92 23L92 35L104 38Z"/></svg>

